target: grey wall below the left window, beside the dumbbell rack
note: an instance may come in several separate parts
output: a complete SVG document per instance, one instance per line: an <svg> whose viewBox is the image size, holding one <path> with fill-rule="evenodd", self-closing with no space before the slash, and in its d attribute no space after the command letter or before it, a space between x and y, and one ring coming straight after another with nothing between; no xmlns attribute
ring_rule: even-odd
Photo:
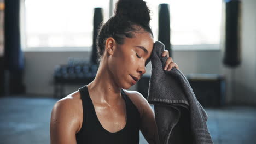
<svg viewBox="0 0 256 144"><path fill-rule="evenodd" d="M54 90L53 73L56 65L67 64L68 57L89 59L88 52L25 52L24 82L27 93L52 95ZM68 87L70 93L78 87Z"/></svg>

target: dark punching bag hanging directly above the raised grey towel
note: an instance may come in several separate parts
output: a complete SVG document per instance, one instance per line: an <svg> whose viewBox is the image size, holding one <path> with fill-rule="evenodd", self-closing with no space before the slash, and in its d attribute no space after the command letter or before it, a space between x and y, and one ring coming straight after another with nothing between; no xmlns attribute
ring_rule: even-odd
<svg viewBox="0 0 256 144"><path fill-rule="evenodd" d="M170 12L168 4L159 4L158 7L158 41L165 44L165 49L169 51L169 56L172 56L171 51L171 36L170 36Z"/></svg>

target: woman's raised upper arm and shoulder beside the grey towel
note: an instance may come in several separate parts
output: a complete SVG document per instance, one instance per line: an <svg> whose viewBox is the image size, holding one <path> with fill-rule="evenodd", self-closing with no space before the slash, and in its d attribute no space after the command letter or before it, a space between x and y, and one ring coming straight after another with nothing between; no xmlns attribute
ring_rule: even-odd
<svg viewBox="0 0 256 144"><path fill-rule="evenodd" d="M141 114L141 132L147 142L159 143L158 129L155 122L155 114L148 101L139 92L133 91L133 103Z"/></svg>

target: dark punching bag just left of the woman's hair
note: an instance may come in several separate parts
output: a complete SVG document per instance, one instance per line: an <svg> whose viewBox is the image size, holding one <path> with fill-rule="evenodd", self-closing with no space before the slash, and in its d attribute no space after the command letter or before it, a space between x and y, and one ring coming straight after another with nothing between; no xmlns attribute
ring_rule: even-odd
<svg viewBox="0 0 256 144"><path fill-rule="evenodd" d="M103 22L103 9L95 8L94 9L94 32L93 32L93 41L92 41L92 55L91 55L91 63L97 64L97 46L96 39L98 35L98 30L100 29L101 23Z"/></svg>

